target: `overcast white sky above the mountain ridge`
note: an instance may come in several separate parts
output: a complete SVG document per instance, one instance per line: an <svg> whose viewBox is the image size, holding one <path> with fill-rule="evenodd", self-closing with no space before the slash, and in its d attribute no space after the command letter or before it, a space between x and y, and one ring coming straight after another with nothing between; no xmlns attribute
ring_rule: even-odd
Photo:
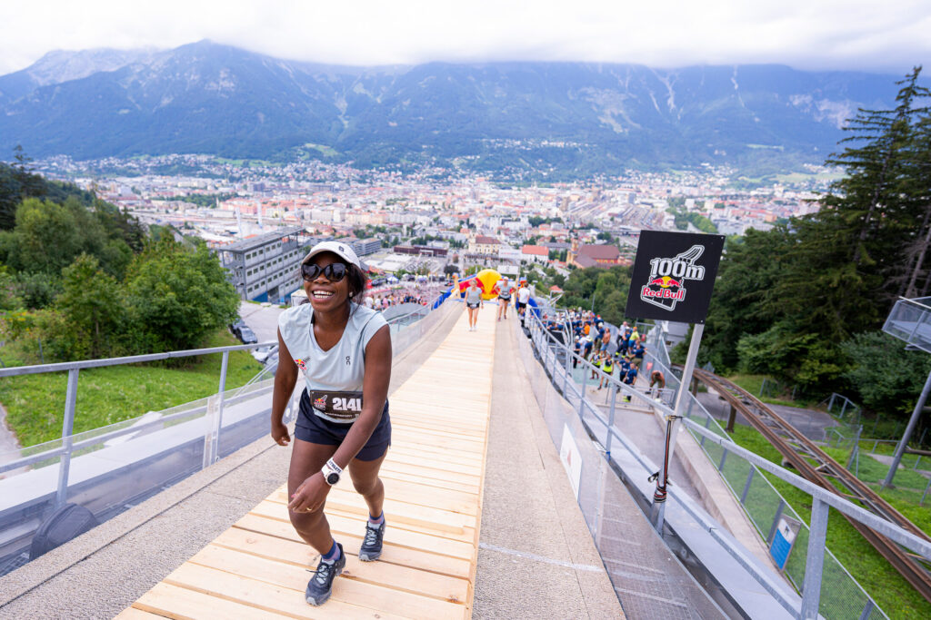
<svg viewBox="0 0 931 620"><path fill-rule="evenodd" d="M929 0L3 0L0 74L53 49L209 38L285 59L776 62L903 74L931 62Z"/></svg>

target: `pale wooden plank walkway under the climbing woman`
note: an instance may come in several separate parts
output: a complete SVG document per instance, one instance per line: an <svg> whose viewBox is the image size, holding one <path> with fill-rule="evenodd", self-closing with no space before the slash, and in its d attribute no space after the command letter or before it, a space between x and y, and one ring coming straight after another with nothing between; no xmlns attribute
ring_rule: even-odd
<svg viewBox="0 0 931 620"><path fill-rule="evenodd" d="M341 481L326 513L346 567L331 599L308 605L307 570L318 556L290 525L283 484L117 617L471 617L496 326L492 310L482 319L470 333L464 313L390 397L392 447L381 474L388 528L379 561L358 561L367 508Z"/></svg>

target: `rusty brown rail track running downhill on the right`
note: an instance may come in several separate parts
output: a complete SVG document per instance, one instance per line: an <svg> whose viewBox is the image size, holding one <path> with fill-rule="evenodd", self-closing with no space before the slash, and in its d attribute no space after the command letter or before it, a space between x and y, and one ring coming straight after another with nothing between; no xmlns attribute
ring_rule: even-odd
<svg viewBox="0 0 931 620"><path fill-rule="evenodd" d="M731 381L695 368L695 380L717 391L722 398L740 412L742 416L773 444L785 460L803 478L859 504L873 514L897 524L902 529L931 541L931 537L890 506L863 481L843 468L827 455L815 442L805 437L784 418L777 415L762 401ZM837 485L831 483L833 480ZM866 538L870 545L892 564L896 570L924 597L931 602L931 574L919 558L882 534L877 534L866 525L844 515L854 528Z"/></svg>

